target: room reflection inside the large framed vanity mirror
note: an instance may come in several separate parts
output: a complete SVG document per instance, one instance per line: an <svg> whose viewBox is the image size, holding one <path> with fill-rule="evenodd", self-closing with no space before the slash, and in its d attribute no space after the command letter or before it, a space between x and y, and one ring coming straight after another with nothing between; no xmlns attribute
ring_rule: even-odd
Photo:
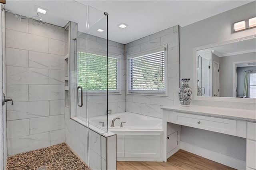
<svg viewBox="0 0 256 170"><path fill-rule="evenodd" d="M256 98L256 39L197 51L197 95Z"/></svg>

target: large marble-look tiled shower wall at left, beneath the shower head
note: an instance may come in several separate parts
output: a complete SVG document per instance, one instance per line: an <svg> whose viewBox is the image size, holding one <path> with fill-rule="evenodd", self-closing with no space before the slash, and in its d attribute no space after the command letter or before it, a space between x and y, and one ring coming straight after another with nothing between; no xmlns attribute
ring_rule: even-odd
<svg viewBox="0 0 256 170"><path fill-rule="evenodd" d="M6 13L8 155L65 141L64 28Z"/></svg>

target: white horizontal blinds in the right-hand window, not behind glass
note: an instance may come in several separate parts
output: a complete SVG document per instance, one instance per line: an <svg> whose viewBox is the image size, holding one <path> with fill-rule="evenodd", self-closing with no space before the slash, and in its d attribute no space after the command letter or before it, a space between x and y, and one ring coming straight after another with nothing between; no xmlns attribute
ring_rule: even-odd
<svg viewBox="0 0 256 170"><path fill-rule="evenodd" d="M130 60L130 90L164 91L164 49Z"/></svg>

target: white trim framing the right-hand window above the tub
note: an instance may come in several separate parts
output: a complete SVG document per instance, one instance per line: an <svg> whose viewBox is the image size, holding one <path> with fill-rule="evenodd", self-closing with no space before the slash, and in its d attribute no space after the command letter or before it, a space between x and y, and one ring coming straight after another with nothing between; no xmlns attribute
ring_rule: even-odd
<svg viewBox="0 0 256 170"><path fill-rule="evenodd" d="M130 69L129 69L129 63L128 59L146 55L149 53L154 53L157 51L160 51L162 49L165 49L164 53L164 80L165 80L165 85L164 85L164 91L157 91L157 90L130 90ZM127 55L127 64L126 64L126 79L127 79L127 84L126 84L126 94L127 95L148 95L148 96L168 96L168 46L166 45L161 45L159 47L151 48L148 50L140 51L138 53L130 54Z"/></svg>

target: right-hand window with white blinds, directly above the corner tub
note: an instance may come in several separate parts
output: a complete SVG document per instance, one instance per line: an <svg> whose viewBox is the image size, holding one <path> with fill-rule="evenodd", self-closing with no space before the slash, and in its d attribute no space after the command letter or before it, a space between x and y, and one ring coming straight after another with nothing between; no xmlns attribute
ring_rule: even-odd
<svg viewBox="0 0 256 170"><path fill-rule="evenodd" d="M166 93L166 47L128 56L128 94Z"/></svg>

